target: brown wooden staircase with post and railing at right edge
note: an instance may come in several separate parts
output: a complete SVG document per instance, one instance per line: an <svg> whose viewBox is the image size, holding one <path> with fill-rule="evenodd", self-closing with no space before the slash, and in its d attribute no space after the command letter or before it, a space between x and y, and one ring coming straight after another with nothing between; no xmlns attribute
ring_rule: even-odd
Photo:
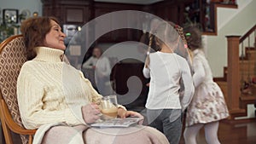
<svg viewBox="0 0 256 144"><path fill-rule="evenodd" d="M224 93L230 119L247 116L247 105L256 103L256 25L244 36L228 36L228 66L224 78L214 81Z"/></svg>

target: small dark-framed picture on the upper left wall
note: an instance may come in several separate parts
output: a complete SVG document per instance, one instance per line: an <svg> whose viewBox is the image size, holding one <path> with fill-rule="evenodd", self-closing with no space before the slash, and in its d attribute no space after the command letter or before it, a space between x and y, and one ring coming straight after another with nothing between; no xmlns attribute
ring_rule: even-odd
<svg viewBox="0 0 256 144"><path fill-rule="evenodd" d="M19 21L19 10L18 9L3 9L3 23L12 24L18 23Z"/></svg>

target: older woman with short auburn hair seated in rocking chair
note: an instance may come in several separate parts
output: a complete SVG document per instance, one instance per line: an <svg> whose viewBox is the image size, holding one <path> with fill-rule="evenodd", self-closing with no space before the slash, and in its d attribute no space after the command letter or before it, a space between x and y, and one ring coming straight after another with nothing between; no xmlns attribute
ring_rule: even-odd
<svg viewBox="0 0 256 144"><path fill-rule="evenodd" d="M33 17L22 22L20 31L28 61L20 70L17 95L24 126L38 129L33 143L166 143L159 131L144 126L106 129L107 133L91 129L100 118L96 102L102 95L82 72L62 61L66 35L58 20ZM122 106L118 115L142 117Z"/></svg>

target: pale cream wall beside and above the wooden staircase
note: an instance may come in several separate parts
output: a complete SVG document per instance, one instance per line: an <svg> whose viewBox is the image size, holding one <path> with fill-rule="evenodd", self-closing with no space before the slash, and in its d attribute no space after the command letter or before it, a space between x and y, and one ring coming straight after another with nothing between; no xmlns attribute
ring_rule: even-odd
<svg viewBox="0 0 256 144"><path fill-rule="evenodd" d="M256 1L237 0L237 3L238 9L218 8L218 36L205 37L213 77L224 77L224 66L227 66L226 36L242 36L256 24Z"/></svg>

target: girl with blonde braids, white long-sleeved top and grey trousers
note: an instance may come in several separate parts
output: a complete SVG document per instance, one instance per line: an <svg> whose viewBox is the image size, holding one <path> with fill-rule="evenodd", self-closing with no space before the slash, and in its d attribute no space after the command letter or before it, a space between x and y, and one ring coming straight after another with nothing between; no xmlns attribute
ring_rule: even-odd
<svg viewBox="0 0 256 144"><path fill-rule="evenodd" d="M182 113L194 94L193 81L187 60L173 52L184 46L176 30L163 21L154 32L158 49L148 55L143 68L144 77L150 78L146 102L148 124L162 131L170 143L178 144ZM180 98L181 81L183 98Z"/></svg>

